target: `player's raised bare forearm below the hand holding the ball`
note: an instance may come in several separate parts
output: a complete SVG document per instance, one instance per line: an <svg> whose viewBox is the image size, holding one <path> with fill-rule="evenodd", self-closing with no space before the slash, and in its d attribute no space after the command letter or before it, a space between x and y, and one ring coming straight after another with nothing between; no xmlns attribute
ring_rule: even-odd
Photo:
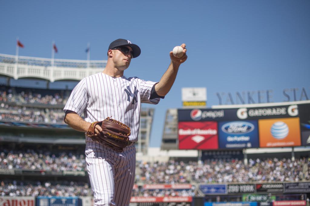
<svg viewBox="0 0 310 206"><path fill-rule="evenodd" d="M162 76L158 84L155 85L157 95L165 96L170 91L173 83L175 82L179 66L179 64L173 62L170 63L165 74Z"/></svg>

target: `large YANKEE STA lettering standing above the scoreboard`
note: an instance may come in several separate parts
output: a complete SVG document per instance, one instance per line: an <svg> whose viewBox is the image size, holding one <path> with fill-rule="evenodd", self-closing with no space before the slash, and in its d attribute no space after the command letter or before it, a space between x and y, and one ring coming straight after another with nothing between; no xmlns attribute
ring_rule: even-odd
<svg viewBox="0 0 310 206"><path fill-rule="evenodd" d="M242 92L216 92L219 105L222 104L256 104L272 103L273 90L242 91ZM310 87L289 88L282 90L283 102L303 101L310 99Z"/></svg>

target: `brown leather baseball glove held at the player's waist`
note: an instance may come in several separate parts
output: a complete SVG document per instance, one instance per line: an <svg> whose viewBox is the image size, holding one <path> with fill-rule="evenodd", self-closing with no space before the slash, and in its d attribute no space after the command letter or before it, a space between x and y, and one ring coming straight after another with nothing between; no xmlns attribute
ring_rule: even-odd
<svg viewBox="0 0 310 206"><path fill-rule="evenodd" d="M99 125L102 128L102 132L96 134L95 127ZM86 135L93 141L106 145L117 152L122 152L128 145L130 128L117 120L113 120L111 117L107 117L100 122L93 122Z"/></svg>

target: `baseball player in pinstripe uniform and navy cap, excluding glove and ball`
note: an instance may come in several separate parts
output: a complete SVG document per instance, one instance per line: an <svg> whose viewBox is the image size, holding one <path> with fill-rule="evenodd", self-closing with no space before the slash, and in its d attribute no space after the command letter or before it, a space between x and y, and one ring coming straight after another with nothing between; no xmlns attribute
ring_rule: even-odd
<svg viewBox="0 0 310 206"><path fill-rule="evenodd" d="M108 61L103 72L82 79L73 89L64 107L64 121L70 127L87 132L91 123L112 117L131 129L122 152L86 135L87 171L95 205L129 205L135 180L135 142L141 103L157 104L168 93L179 65L187 59L185 44L181 46L184 55L177 58L171 51L168 69L159 82L151 82L124 76L124 70L141 50L129 40L117 39L108 47ZM95 125L94 131L98 135L103 132L99 125Z"/></svg>

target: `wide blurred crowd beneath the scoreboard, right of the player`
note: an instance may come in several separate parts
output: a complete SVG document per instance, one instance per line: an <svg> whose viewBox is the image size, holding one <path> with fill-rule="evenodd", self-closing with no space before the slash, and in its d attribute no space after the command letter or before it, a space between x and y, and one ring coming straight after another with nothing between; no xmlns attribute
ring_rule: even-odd
<svg viewBox="0 0 310 206"><path fill-rule="evenodd" d="M151 183L245 183L310 180L309 162L306 158L266 160L249 159L205 162L140 162L141 174L137 181Z"/></svg>

